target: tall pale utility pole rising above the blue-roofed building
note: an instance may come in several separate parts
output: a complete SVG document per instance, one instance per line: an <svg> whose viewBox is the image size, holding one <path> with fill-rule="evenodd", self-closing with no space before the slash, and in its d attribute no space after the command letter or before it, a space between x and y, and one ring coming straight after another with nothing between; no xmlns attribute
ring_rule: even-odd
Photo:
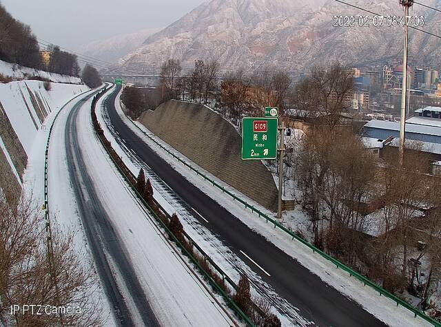
<svg viewBox="0 0 441 327"><path fill-rule="evenodd" d="M404 144L406 129L406 91L407 91L407 48L409 46L409 7L413 6L413 0L400 0L404 6L404 50L402 54L402 89L401 89L401 120L400 120L400 167L404 162Z"/></svg>

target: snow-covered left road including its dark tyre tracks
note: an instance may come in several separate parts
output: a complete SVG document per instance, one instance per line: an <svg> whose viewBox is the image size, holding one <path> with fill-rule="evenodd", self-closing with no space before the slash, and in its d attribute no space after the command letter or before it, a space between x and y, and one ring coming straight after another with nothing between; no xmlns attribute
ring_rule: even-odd
<svg viewBox="0 0 441 327"><path fill-rule="evenodd" d="M90 104L90 100L80 101L57 121L53 139L64 143L65 158L58 154L58 160L67 165L57 169L65 167L64 177L72 183L64 198L76 198L115 320L122 326L231 326L223 308L163 238L115 171L92 131ZM59 178L62 175L63 171L57 172ZM69 183L59 181L63 182ZM63 207L63 201L52 204Z"/></svg>

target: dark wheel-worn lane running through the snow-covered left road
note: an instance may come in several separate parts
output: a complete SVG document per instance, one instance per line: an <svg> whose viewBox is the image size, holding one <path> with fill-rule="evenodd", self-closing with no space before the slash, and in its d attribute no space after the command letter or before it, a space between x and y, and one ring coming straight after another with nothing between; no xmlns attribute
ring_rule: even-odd
<svg viewBox="0 0 441 327"><path fill-rule="evenodd" d="M143 288L136 277L134 268L130 260L127 259L126 251L121 246L121 242L119 242L118 235L115 233L106 211L101 207L97 196L99 190L94 188L83 162L81 144L76 132L76 119L83 105L90 106L90 102L86 102L86 100L87 98L74 105L68 116L65 128L65 151L68 159L70 181L74 189L85 235L88 238L88 244L90 245L105 293L110 305L114 309L116 321L119 321L121 326L134 326L132 319L134 313L128 308L127 302L121 294L106 253L112 257L112 263L123 278L125 286L136 306L137 315L141 315L144 325L159 326L152 308L150 308L150 304L145 297ZM90 107L88 109L90 110ZM90 140L90 142L98 142L98 140Z"/></svg>

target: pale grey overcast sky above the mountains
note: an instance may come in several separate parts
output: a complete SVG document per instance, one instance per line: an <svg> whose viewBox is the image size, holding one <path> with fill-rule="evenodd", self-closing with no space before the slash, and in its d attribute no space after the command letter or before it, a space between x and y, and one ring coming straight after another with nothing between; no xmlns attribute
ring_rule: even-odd
<svg viewBox="0 0 441 327"><path fill-rule="evenodd" d="M205 0L0 0L40 39L77 46L145 28L164 28Z"/></svg>

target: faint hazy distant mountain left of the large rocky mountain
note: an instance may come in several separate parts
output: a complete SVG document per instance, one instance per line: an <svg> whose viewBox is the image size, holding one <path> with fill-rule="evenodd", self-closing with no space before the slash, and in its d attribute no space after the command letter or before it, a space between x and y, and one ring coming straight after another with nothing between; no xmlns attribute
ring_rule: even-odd
<svg viewBox="0 0 441 327"><path fill-rule="evenodd" d="M121 56L139 48L148 36L156 32L158 32L158 29L150 28L135 33L121 34L110 39L81 45L76 51L107 63L116 63Z"/></svg>

